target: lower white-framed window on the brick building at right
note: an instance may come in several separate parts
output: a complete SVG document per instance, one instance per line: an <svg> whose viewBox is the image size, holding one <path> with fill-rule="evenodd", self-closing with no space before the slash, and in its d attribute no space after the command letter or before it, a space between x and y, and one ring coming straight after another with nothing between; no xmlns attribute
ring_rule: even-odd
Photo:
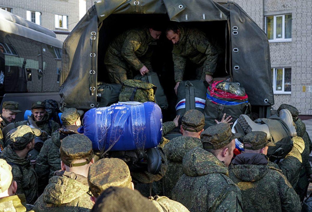
<svg viewBox="0 0 312 212"><path fill-rule="evenodd" d="M291 94L291 68L273 68L274 94Z"/></svg>

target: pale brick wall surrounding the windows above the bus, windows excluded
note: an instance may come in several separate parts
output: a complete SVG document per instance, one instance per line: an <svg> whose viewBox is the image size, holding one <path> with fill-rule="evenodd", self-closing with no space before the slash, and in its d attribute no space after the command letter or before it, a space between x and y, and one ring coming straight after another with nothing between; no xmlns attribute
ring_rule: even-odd
<svg viewBox="0 0 312 212"><path fill-rule="evenodd" d="M55 28L55 14L68 16L68 29L57 29L71 31L79 22L79 1L78 0L2 0L0 6L13 8L13 14L26 19L26 11L41 12L41 26L50 30ZM66 36L57 35L57 38L64 40Z"/></svg>

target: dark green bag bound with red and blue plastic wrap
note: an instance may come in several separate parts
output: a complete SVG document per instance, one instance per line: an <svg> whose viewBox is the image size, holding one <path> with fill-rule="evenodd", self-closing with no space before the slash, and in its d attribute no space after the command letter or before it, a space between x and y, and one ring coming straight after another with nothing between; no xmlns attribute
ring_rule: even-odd
<svg viewBox="0 0 312 212"><path fill-rule="evenodd" d="M220 121L224 113L232 116L235 122L241 114L250 115L251 106L245 89L239 83L228 81L214 81L207 89L205 107L205 129Z"/></svg>

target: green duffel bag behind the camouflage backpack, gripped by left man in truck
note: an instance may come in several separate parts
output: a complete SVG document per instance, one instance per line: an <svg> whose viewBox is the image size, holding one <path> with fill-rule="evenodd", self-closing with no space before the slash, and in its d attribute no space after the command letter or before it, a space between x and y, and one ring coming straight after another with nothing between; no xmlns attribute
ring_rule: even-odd
<svg viewBox="0 0 312 212"><path fill-rule="evenodd" d="M157 91L155 93L155 102L162 109L168 108L168 101L165 93L163 92L163 86L161 86L159 82L159 78L156 72L149 72L147 75L136 75L133 79L138 79L143 82L149 82L154 84L157 87Z"/></svg>

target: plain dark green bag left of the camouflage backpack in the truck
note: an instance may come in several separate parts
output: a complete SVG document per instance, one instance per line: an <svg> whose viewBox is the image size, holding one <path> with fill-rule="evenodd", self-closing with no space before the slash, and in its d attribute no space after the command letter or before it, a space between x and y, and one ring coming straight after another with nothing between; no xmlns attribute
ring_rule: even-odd
<svg viewBox="0 0 312 212"><path fill-rule="evenodd" d="M98 82L97 96L99 107L106 107L118 102L121 84L108 84Z"/></svg>

